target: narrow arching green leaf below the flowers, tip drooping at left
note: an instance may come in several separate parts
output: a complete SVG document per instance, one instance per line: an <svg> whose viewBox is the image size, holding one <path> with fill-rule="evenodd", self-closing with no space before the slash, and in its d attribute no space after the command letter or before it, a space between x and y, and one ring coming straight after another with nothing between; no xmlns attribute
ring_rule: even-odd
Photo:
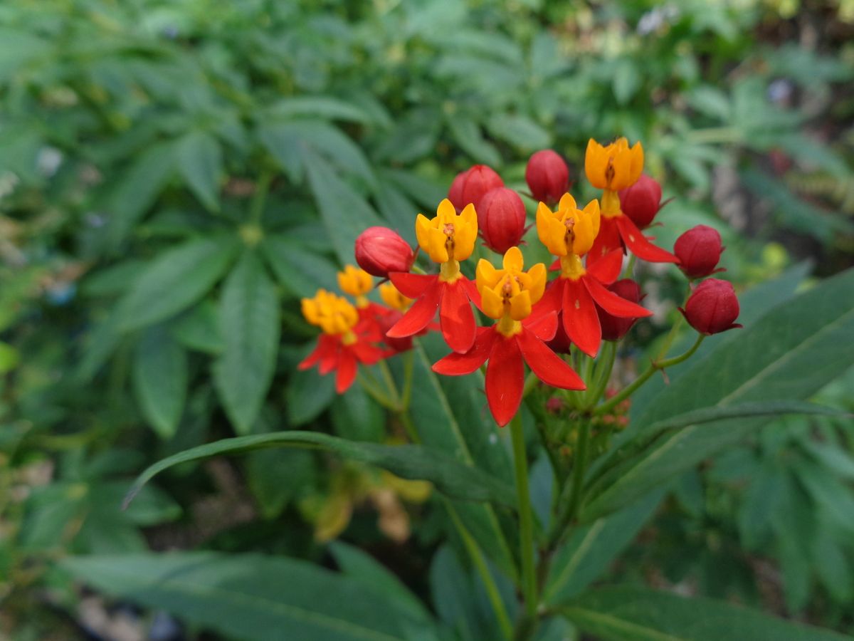
<svg viewBox="0 0 854 641"><path fill-rule="evenodd" d="M236 438L223 438L168 456L149 466L134 482L126 503L143 485L167 468L178 463L197 461L209 456L237 455L272 447L301 447L331 450L340 456L375 465L403 479L429 480L449 497L465 501L494 501L506 507L515 505L515 494L504 481L456 462L450 456L421 445L378 445L354 443L320 432L271 432Z"/></svg>

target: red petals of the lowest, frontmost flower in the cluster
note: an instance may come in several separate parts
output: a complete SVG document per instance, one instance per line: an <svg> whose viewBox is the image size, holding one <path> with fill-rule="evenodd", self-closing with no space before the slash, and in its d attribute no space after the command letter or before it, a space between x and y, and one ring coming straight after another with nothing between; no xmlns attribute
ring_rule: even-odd
<svg viewBox="0 0 854 641"><path fill-rule="evenodd" d="M510 422L522 403L524 363L547 385L564 390L587 389L581 377L543 342L553 338L558 328L554 312L525 319L521 330L510 336L500 332L499 325L478 327L471 350L445 356L433 365L433 371L461 376L488 361L486 397L489 411L500 426Z"/></svg>

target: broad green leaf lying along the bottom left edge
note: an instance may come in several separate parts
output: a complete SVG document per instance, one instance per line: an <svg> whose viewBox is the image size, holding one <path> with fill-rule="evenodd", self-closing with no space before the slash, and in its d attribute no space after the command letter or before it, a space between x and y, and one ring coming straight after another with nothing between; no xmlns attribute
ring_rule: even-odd
<svg viewBox="0 0 854 641"><path fill-rule="evenodd" d="M252 641L402 641L401 615L365 585L281 556L214 552L78 556L62 567L100 591Z"/></svg>

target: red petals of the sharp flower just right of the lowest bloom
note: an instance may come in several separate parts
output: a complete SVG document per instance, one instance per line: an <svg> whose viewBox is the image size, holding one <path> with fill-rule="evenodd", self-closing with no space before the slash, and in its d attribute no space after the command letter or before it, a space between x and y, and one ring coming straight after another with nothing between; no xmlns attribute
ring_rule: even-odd
<svg viewBox="0 0 854 641"><path fill-rule="evenodd" d="M617 318L644 318L652 312L609 291L620 274L623 255L612 251L600 262L585 269L581 259L570 254L561 256L561 276L553 280L534 313L559 311L564 331L570 340L588 356L596 356L602 342L602 326L596 306Z"/></svg>

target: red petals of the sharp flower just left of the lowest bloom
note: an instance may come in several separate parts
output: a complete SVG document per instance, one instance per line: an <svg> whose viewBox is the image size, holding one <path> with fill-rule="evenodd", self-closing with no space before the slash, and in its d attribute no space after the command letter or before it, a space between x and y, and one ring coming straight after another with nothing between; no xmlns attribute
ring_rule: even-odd
<svg viewBox="0 0 854 641"><path fill-rule="evenodd" d="M480 305L480 295L471 280L459 273L453 282L440 274L389 273L391 282L415 303L400 321L386 332L389 338L407 338L421 332L436 317L445 342L454 351L467 351L475 341L474 312L469 301Z"/></svg>

